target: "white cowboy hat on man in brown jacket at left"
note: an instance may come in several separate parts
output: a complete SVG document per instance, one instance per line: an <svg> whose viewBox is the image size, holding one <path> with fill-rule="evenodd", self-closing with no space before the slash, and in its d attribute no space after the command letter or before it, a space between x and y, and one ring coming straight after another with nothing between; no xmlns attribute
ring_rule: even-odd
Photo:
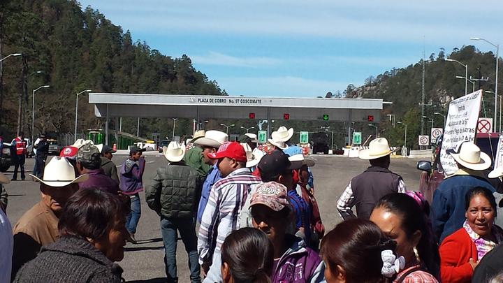
<svg viewBox="0 0 503 283"><path fill-rule="evenodd" d="M75 169L64 157L52 157L48 165L45 166L43 179L31 174L30 176L49 187L64 187L68 184L85 182L89 178L87 174L75 177Z"/></svg>

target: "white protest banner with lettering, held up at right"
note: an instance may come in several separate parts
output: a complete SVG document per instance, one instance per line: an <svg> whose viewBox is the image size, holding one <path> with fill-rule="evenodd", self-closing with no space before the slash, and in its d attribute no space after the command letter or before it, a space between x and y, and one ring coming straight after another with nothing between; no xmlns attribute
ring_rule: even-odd
<svg viewBox="0 0 503 283"><path fill-rule="evenodd" d="M440 162L446 175L458 170L455 160L446 150L455 149L465 141L475 142L476 125L479 119L482 90L461 96L449 103L449 112L440 150Z"/></svg>

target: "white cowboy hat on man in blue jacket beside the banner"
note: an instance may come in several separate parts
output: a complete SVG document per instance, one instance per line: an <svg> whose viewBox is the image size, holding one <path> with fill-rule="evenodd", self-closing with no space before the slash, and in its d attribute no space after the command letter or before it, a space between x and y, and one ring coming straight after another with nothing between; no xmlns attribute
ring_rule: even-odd
<svg viewBox="0 0 503 283"><path fill-rule="evenodd" d="M451 154L458 164L476 171L486 170L493 163L488 154L481 152L480 147L471 142L461 143L457 152L447 150L447 153Z"/></svg>

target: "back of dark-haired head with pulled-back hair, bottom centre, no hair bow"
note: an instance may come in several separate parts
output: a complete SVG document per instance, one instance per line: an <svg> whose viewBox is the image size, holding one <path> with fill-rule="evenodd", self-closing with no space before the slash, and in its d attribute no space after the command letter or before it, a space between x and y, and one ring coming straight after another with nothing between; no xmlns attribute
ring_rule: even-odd
<svg viewBox="0 0 503 283"><path fill-rule="evenodd" d="M256 228L240 228L222 244L221 275L224 283L270 283L273 247L265 233Z"/></svg>

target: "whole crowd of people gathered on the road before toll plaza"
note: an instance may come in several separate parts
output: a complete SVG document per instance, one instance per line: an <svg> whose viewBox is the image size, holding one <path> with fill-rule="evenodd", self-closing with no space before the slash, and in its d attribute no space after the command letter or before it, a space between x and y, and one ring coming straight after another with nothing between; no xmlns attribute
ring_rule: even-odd
<svg viewBox="0 0 503 283"><path fill-rule="evenodd" d="M188 145L163 147L166 164L148 182L144 149L130 147L117 171L112 148L77 140L45 166L41 136L30 174L41 201L12 225L1 188L0 282L122 282L141 191L159 215L167 282L502 282L503 168L488 173L491 159L474 143L449 152L459 170L428 203L389 169L388 141L372 140L359 152L370 166L337 201L343 221L325 233L316 161L292 136L282 126L260 150L252 133L230 142L196 131ZM178 235L189 278L177 276Z"/></svg>

